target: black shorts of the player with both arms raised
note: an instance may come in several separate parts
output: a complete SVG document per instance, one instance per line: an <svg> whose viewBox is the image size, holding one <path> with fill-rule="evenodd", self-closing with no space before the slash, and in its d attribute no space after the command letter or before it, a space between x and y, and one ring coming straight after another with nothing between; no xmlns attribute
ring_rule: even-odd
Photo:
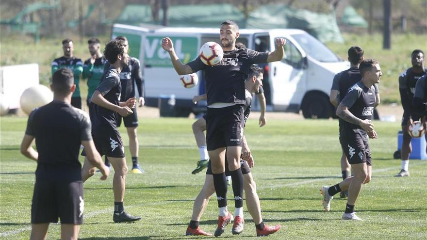
<svg viewBox="0 0 427 240"><path fill-rule="evenodd" d="M206 114L206 145L208 151L220 147L242 146L245 126L243 105L208 108Z"/></svg>

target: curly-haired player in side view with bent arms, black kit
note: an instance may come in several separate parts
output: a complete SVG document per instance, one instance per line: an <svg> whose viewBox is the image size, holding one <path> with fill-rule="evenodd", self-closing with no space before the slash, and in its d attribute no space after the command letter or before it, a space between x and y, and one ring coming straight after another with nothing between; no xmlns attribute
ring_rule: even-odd
<svg viewBox="0 0 427 240"><path fill-rule="evenodd" d="M114 192L114 214L113 221L134 222L140 217L134 217L125 212L123 198L126 187L126 166L125 147L117 129L117 114L128 116L135 106L135 97L129 98L126 102L120 102L121 93L120 71L128 64L129 56L125 51L124 42L113 40L105 45L104 56L111 64L104 73L97 90L92 96L94 103L91 112L92 135L95 146L102 155L106 155L114 168L113 192ZM82 152L85 155L85 150ZM92 164L85 158L82 168L83 182L95 174Z"/></svg>

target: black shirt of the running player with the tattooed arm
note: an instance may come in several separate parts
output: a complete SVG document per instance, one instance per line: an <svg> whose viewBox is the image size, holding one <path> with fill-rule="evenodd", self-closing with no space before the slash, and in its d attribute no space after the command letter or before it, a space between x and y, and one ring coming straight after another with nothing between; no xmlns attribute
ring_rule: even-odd
<svg viewBox="0 0 427 240"><path fill-rule="evenodd" d="M344 99L341 101L341 103L348 108L348 111L361 120L372 119L375 102L376 97L374 87L371 86L370 88L367 88L362 81L359 81L358 83L351 86ZM362 134L366 134L366 132L359 125L355 125L349 122L345 122L343 131L359 131Z"/></svg>

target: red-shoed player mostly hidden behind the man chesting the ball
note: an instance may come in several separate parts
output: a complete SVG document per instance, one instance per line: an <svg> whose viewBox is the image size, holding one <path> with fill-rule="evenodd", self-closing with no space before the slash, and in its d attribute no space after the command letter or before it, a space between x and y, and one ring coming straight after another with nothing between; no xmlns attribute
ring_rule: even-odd
<svg viewBox="0 0 427 240"><path fill-rule="evenodd" d="M251 104L251 98L252 98L250 92L258 92L259 88L262 86L262 80L263 80L262 71L263 71L262 68L252 65L250 73L246 80L246 83L245 83L246 106L245 106L245 113L244 113L245 122L249 117L249 113L250 113L250 104ZM249 147L247 146L245 137L243 137L243 151L245 152L246 156L249 156L249 165L248 165L248 162L244 160L240 160L240 165L241 165L242 173L244 176L246 206L255 223L257 236L267 236L269 234L279 231L281 226L280 225L268 226L264 224L263 219L261 217L260 199L256 192L256 184L252 178L252 174L250 173L250 167L253 166L253 158L252 158L252 155L250 154L250 150L249 150ZM227 164L226 164L226 175L230 176L230 171L228 170ZM188 225L187 231L186 231L187 236L188 235L212 236L212 234L206 233L205 231L200 229L199 222L200 222L201 215L206 209L209 198L214 192L215 192L215 188L213 186L212 168L211 168L211 164L208 163L208 170L206 172L204 186L200 191L200 193L197 195L196 200L194 201L193 215L191 217L190 224ZM242 217L237 216L236 218L241 218L241 219L240 221L234 222L232 233L240 234L243 231L243 226L244 226L243 216Z"/></svg>

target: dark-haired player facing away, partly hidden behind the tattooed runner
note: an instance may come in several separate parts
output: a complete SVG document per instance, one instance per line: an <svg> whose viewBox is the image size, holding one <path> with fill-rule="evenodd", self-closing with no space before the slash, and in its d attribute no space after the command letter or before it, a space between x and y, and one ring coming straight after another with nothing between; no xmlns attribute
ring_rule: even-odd
<svg viewBox="0 0 427 240"><path fill-rule="evenodd" d="M348 49L348 61L350 61L350 68L337 73L332 81L332 87L330 89L329 100L336 108L340 104L340 102L344 99L345 94L348 89L361 80L362 76L359 71L359 64L363 61L363 49L357 46L353 46ZM379 90L378 84L374 84L376 100L375 107L379 104ZM341 129L343 128L344 120L338 118L338 126L339 133L341 133ZM343 176L343 180L350 176L350 164L347 161L347 157L345 157L344 149L342 149L341 155L341 174ZM343 198L348 196L347 191L343 191L340 193L340 197Z"/></svg>

